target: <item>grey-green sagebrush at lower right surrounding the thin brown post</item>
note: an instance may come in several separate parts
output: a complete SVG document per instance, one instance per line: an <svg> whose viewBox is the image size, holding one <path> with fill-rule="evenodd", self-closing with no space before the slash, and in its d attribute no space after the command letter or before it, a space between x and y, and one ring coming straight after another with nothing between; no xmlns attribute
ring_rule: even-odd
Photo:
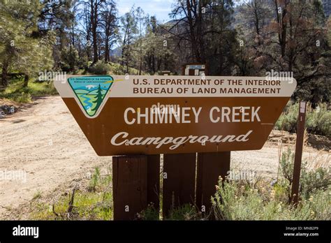
<svg viewBox="0 0 331 243"><path fill-rule="evenodd" d="M290 203L294 155L290 149L281 156L281 176L276 184L251 184L219 180L212 198L216 219L219 220L330 220L330 170L308 170L302 163L300 200Z"/></svg>

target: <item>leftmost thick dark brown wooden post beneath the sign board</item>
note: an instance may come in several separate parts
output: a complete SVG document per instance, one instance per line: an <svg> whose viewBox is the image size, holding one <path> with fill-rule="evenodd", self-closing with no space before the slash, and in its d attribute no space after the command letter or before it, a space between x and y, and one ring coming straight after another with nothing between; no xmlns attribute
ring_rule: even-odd
<svg viewBox="0 0 331 243"><path fill-rule="evenodd" d="M112 157L114 219L135 219L151 203L159 210L159 172L159 155Z"/></svg>

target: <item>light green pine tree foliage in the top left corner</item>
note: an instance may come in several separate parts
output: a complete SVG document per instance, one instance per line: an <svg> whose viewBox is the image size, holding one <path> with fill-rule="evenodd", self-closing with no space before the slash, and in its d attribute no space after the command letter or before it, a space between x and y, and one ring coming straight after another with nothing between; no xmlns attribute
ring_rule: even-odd
<svg viewBox="0 0 331 243"><path fill-rule="evenodd" d="M52 31L38 34L39 0L0 3L0 66L1 82L8 84L8 71L24 74L24 87L29 78L53 66Z"/></svg>

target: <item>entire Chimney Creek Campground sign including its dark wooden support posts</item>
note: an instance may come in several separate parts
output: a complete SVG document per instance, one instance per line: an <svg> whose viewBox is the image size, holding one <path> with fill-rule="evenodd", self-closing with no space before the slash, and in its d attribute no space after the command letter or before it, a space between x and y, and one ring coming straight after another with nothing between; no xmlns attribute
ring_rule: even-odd
<svg viewBox="0 0 331 243"><path fill-rule="evenodd" d="M68 75L54 82L96 154L118 156L114 219L133 219L149 202L159 209L159 154L163 215L184 203L208 209L230 151L262 148L296 87L293 78L216 77L193 68L194 75L184 68L188 76Z"/></svg>

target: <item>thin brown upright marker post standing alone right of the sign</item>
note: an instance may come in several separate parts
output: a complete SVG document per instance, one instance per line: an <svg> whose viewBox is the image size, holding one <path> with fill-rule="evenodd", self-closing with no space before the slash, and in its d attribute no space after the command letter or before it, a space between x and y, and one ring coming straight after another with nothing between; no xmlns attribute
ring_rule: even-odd
<svg viewBox="0 0 331 243"><path fill-rule="evenodd" d="M306 107L307 103L300 102L299 115L297 116L297 140L295 142L295 158L293 168L293 181L292 181L292 198L293 204L297 205L299 199L299 184L300 184L300 170L302 161L302 147L304 140L304 124L306 120Z"/></svg>

